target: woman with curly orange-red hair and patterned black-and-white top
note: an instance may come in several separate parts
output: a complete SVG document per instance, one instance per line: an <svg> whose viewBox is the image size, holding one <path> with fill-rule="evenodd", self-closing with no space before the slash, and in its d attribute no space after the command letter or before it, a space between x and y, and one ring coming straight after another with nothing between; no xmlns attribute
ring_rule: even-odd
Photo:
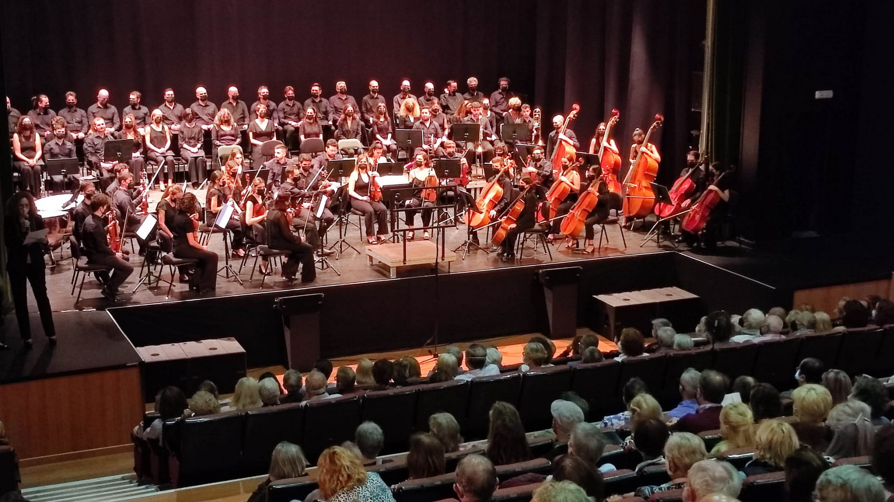
<svg viewBox="0 0 894 502"><path fill-rule="evenodd" d="M364 471L360 458L346 448L326 448L316 468L320 494L327 502L394 502L382 478Z"/></svg>

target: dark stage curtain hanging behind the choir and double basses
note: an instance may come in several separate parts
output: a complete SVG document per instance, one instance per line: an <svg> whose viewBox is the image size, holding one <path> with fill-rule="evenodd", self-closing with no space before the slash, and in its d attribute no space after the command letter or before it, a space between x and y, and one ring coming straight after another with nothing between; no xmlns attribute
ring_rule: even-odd
<svg viewBox="0 0 894 502"><path fill-rule="evenodd" d="M440 94L447 79L465 90L476 75L487 93L508 76L547 127L579 103L572 128L582 142L611 108L621 111L622 148L664 113L655 140L673 166L660 176L672 180L693 142L702 38L704 0L33 0L4 3L2 41L7 94L20 110L38 93L58 109L67 90L86 108L100 87L120 110L132 89L154 106L171 87L189 105L204 85L219 105L235 84L250 104L261 84L279 102L284 86L303 99L314 81L331 96L346 79L359 99L371 78L390 98L403 78L418 95L428 79Z"/></svg>

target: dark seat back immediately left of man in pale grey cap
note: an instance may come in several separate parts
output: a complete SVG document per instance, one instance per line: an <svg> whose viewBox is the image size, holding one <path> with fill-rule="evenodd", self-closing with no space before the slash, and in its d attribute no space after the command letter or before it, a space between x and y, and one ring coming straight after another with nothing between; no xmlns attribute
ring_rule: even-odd
<svg viewBox="0 0 894 502"><path fill-rule="evenodd" d="M571 368L568 365L537 368L524 373L519 393L519 415L525 431L552 427L550 405L570 388Z"/></svg>

